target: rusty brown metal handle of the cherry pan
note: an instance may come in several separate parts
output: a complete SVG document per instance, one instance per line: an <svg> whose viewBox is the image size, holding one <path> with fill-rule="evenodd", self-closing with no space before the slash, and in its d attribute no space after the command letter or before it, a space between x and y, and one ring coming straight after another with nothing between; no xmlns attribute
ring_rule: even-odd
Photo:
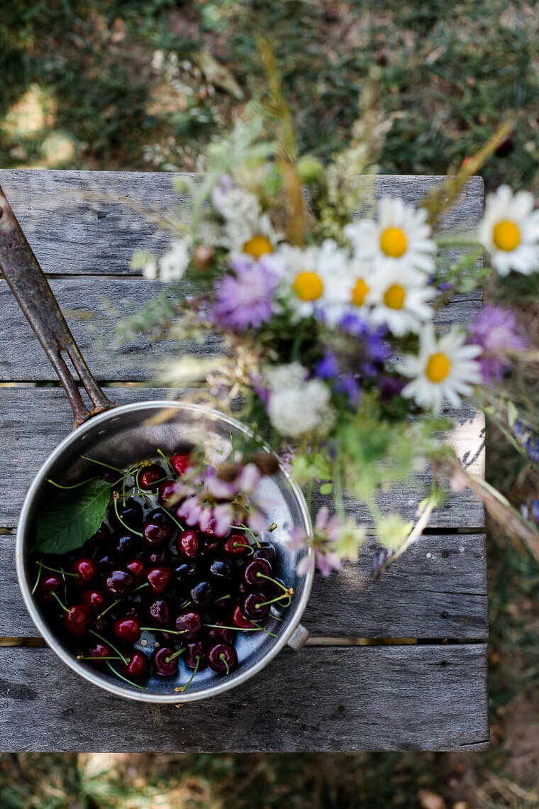
<svg viewBox="0 0 539 809"><path fill-rule="evenodd" d="M26 236L2 191L2 186L0 186L0 269L67 393L74 413L73 426L78 427L97 413L103 413L103 410L114 407L114 402L104 395L84 362L53 295L53 290L48 286L39 261L27 243ZM88 409L82 400L77 382L62 356L64 351L94 404L92 410Z"/></svg>

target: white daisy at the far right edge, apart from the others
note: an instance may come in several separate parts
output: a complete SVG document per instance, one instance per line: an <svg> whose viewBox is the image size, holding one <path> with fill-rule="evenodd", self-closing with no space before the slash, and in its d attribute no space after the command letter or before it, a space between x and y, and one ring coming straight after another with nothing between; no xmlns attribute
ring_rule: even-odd
<svg viewBox="0 0 539 809"><path fill-rule="evenodd" d="M529 275L539 269L539 211L533 210L532 194L513 195L508 185L489 194L478 239L500 275L511 269Z"/></svg>

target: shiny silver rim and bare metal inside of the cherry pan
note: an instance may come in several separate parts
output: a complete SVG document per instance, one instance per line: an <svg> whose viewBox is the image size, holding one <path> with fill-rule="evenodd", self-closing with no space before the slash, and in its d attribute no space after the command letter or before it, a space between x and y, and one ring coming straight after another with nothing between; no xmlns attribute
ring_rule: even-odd
<svg viewBox="0 0 539 809"><path fill-rule="evenodd" d="M158 417L163 410L168 412L166 419L160 421ZM112 675L102 674L75 659L74 654L44 621L40 605L32 596L33 582L29 575L28 552L32 546L36 515L44 498L50 493L50 487L46 484L48 477L69 484L94 474L95 465L82 460L80 455L89 455L106 462L112 460L116 466L127 467L146 457L158 460L157 448L170 454L183 442L200 444L205 449L208 463L217 464L229 452L230 436L240 433L250 434L238 421L195 404L163 401L126 404L101 413L78 427L61 442L40 468L28 489L20 515L16 544L19 584L28 612L48 645L86 680L119 697L133 700L154 703L192 702L224 693L245 682L266 666L289 640L296 649L305 642L306 630L299 622L309 600L314 571L311 566L308 574L298 577L296 566L305 553L312 555L313 551L291 551L284 540L291 527L300 526L310 533L312 526L305 499L283 468L271 478L263 478L256 496L263 502L267 512L267 524L277 524L276 530L269 535L278 549L277 574L294 588L295 595L292 605L280 612L282 621L272 621L275 626L271 629L276 637L270 637L266 633L238 633L236 648L240 663L233 674L220 677L206 669L196 676L187 692L180 693L175 688L181 687L188 679L187 669L180 663L177 676L165 679L152 675L147 683L148 691L138 691L121 680L114 679ZM152 642L151 638L149 633L145 638L143 634L141 638L148 643L146 651ZM137 646L144 648L140 641Z"/></svg>

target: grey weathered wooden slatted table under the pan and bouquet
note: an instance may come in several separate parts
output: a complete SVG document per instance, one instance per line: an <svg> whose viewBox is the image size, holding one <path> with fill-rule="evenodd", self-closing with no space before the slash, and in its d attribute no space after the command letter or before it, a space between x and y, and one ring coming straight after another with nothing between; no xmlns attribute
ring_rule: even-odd
<svg viewBox="0 0 539 809"><path fill-rule="evenodd" d="M377 193L417 202L437 182L382 176ZM112 384L112 398L120 403L159 398L155 388L124 383L141 383L153 358L162 358L170 346L145 345L142 354L128 346L118 358L106 349L103 314L113 323L162 290L128 266L134 248L166 244L167 236L141 217L139 206L172 210L178 197L171 193L171 176L8 170L0 171L0 184L97 378ZM75 193L81 189L85 200ZM482 180L474 178L445 226L470 227L481 212ZM439 322L465 323L480 307L478 293L461 296L444 307ZM470 492L455 494L423 540L381 580L368 577L374 540L359 565L318 578L303 621L311 631L308 646L284 650L253 680L222 697L162 707L123 701L78 678L47 647L17 645L15 638L36 637L15 577L17 517L27 485L69 430L71 414L2 280L0 311L0 636L11 639L0 647L2 750L486 747L484 519ZM100 320L89 319L89 312ZM103 328L100 345L95 337L103 338ZM482 473L482 416L464 410L456 419L453 443L465 463ZM399 490L381 502L413 517L418 499ZM364 517L361 508L356 513Z"/></svg>

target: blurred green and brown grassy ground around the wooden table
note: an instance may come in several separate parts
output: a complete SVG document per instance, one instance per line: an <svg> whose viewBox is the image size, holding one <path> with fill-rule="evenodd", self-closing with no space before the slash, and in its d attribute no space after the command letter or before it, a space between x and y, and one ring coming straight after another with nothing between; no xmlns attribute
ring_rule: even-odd
<svg viewBox="0 0 539 809"><path fill-rule="evenodd" d="M323 159L347 143L374 75L398 113L381 172L445 173L512 113L487 188L537 185L539 11L506 0L3 0L0 166L193 170L256 94L256 30L272 32L301 150ZM156 49L178 56L167 76ZM512 490L515 458L497 441L490 458ZM539 573L494 530L490 568L486 753L5 754L0 807L537 807Z"/></svg>

